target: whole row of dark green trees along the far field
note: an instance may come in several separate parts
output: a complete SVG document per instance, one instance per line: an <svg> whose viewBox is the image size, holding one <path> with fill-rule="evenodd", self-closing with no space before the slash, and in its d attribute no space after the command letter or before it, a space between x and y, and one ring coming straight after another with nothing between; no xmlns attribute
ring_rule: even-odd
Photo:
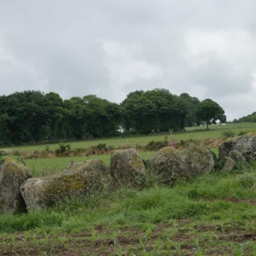
<svg viewBox="0 0 256 256"><path fill-rule="evenodd" d="M218 103L165 89L131 92L120 103L95 95L63 100L57 93L15 92L0 96L0 143L109 137L126 133L181 131L185 126L225 121Z"/></svg>

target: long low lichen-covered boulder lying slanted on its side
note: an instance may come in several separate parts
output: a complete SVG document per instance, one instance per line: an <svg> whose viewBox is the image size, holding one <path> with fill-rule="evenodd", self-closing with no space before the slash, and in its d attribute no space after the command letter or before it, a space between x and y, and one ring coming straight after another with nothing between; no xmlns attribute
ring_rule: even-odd
<svg viewBox="0 0 256 256"><path fill-rule="evenodd" d="M28 179L20 191L29 211L46 208L59 200L87 196L109 185L109 169L101 160L88 160L63 172Z"/></svg>

